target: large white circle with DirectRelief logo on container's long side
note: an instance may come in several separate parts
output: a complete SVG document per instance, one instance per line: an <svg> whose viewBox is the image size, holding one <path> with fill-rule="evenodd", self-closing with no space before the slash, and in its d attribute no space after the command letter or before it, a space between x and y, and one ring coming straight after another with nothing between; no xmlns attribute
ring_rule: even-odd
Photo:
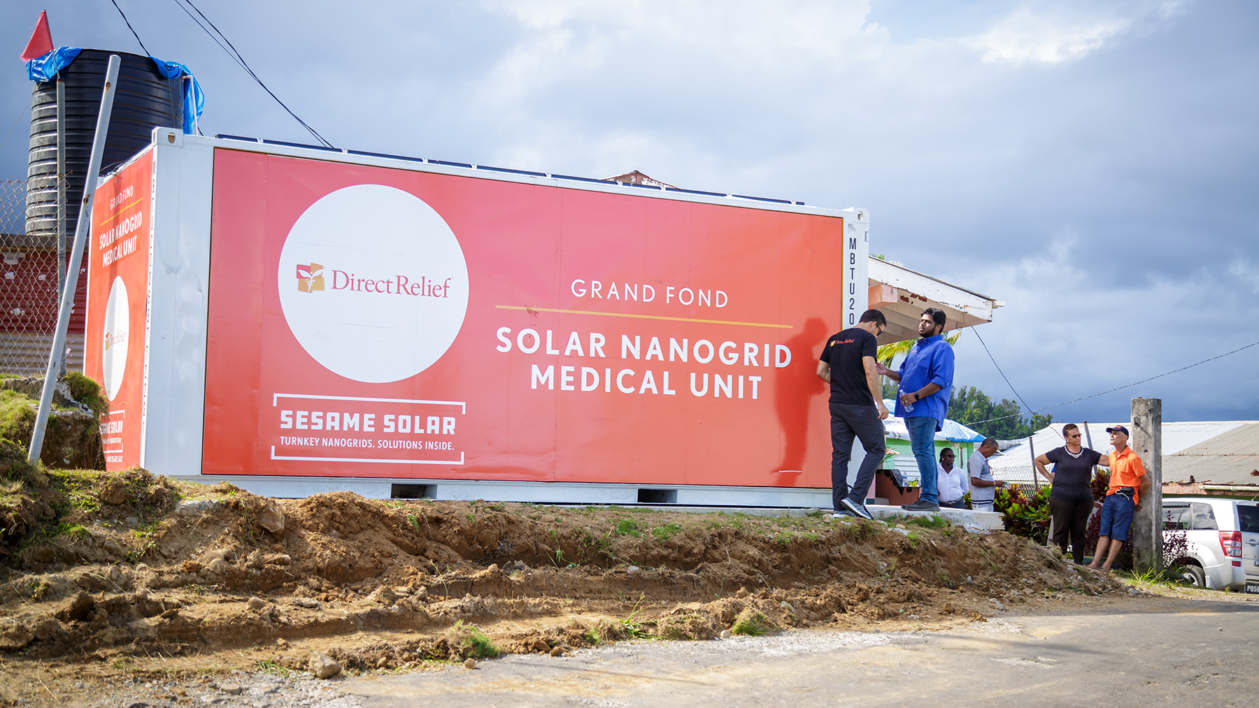
<svg viewBox="0 0 1259 708"><path fill-rule="evenodd" d="M468 307L454 231L415 195L384 185L340 189L312 204L285 239L277 283L302 348L366 384L432 366Z"/></svg>

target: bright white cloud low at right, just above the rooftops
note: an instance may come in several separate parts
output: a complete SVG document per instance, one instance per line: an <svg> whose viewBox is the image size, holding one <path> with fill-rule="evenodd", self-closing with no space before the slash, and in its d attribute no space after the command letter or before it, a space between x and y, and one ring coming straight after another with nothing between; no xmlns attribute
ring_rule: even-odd
<svg viewBox="0 0 1259 708"><path fill-rule="evenodd" d="M976 331L1027 405L1039 409L1088 396L1254 341L1236 322L1253 321L1259 306L1248 302L1246 293L1229 294L1231 285L1245 282L1244 274L1241 283L1221 282L1220 273L1195 268L1177 279L1121 285L1084 272L1081 258L1090 250L1081 239L1070 231L1058 236L1040 254L983 273L983 292L1008 306ZM977 385L996 399L1012 399L983 348L967 341L972 337L963 335L958 343L954 385ZM1224 380L1233 390L1259 385L1259 375L1239 366L1243 361L1239 355L1207 362L1044 412L1058 420L1122 420L1131 397L1149 396L1163 399L1165 420L1253 416L1245 404L1221 396Z"/></svg>

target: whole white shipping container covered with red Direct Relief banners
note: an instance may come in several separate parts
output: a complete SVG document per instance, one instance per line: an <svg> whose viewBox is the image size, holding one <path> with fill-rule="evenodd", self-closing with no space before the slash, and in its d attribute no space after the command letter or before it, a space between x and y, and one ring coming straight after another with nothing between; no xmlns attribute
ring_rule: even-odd
<svg viewBox="0 0 1259 708"><path fill-rule="evenodd" d="M277 495L830 506L870 216L154 131L98 189L110 469Z"/></svg>

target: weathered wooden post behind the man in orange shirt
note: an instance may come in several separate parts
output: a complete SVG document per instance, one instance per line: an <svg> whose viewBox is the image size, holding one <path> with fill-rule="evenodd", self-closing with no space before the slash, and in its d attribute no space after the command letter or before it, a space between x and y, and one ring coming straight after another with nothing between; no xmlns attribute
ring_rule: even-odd
<svg viewBox="0 0 1259 708"><path fill-rule="evenodd" d="M1163 401L1132 399L1132 438L1128 445L1141 458L1149 492L1132 517L1132 565L1137 573L1163 567Z"/></svg>

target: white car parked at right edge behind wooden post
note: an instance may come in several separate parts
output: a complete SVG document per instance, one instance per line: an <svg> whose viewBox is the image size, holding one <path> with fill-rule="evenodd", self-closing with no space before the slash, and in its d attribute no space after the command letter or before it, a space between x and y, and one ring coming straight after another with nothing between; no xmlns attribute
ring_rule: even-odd
<svg viewBox="0 0 1259 708"><path fill-rule="evenodd" d="M1168 565L1201 587L1259 595L1259 503L1209 497L1163 498L1163 550L1185 546Z"/></svg>

